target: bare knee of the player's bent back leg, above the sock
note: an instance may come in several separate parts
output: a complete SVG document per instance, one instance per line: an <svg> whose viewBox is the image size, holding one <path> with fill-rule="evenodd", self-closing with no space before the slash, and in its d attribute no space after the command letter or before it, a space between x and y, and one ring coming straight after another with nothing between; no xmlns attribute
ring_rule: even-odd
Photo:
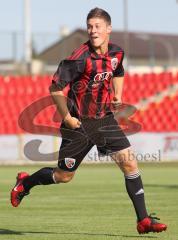
<svg viewBox="0 0 178 240"><path fill-rule="evenodd" d="M62 170L54 171L54 180L56 183L68 183L74 177L74 172L64 172Z"/></svg>

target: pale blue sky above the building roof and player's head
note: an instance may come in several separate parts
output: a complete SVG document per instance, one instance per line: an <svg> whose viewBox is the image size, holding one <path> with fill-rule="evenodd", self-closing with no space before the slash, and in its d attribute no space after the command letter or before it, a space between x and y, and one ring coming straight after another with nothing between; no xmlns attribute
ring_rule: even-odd
<svg viewBox="0 0 178 240"><path fill-rule="evenodd" d="M7 32L24 30L23 5L24 0L0 0L0 58L4 42L9 44L8 51L12 52L10 36L5 36ZM85 28L86 15L96 6L110 13L114 30L123 29L123 0L31 0L31 5L33 33L57 35L64 25L71 31ZM178 35L176 0L128 0L128 12L130 31ZM20 40L18 42L20 48Z"/></svg>

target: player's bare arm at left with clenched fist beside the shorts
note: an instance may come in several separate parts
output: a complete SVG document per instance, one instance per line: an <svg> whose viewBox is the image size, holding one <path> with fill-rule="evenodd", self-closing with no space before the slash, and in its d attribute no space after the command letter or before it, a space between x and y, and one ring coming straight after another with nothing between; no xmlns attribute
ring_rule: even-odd
<svg viewBox="0 0 178 240"><path fill-rule="evenodd" d="M56 84L51 84L49 91L65 125L71 129L79 128L81 122L77 118L71 116L67 107L67 97L64 96L63 91L59 91Z"/></svg>

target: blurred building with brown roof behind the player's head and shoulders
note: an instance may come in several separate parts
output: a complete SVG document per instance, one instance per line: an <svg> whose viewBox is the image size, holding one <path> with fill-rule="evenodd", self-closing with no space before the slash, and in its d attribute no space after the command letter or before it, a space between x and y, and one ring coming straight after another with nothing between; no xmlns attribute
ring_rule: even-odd
<svg viewBox="0 0 178 240"><path fill-rule="evenodd" d="M125 50L125 56L129 59L130 68L135 67L161 67L178 68L178 35L152 34L130 32L129 52L124 49L124 32L113 31L111 41ZM44 49L37 58L46 65L56 66L62 59L69 56L72 51L88 39L87 32L77 29L67 37L57 41Z"/></svg>

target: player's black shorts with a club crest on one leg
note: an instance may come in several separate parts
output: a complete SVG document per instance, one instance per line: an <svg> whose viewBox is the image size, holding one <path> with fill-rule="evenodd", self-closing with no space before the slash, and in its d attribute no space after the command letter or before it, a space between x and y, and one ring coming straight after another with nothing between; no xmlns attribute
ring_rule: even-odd
<svg viewBox="0 0 178 240"><path fill-rule="evenodd" d="M58 166L64 171L75 171L94 145L99 153L105 155L130 146L112 114L100 119L82 119L81 122L81 127L74 130L63 123L61 125L62 143Z"/></svg>

